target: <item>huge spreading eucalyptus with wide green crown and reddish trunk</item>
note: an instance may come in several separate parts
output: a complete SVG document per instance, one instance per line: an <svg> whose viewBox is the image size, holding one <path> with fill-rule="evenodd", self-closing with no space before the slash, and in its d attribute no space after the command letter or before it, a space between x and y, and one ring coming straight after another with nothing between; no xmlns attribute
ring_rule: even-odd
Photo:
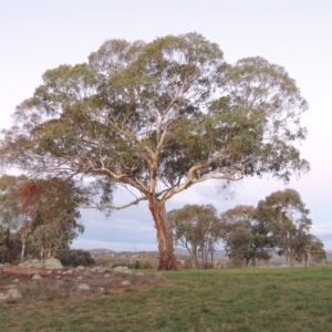
<svg viewBox="0 0 332 332"><path fill-rule="evenodd" d="M175 269L165 203L208 179L288 180L307 169L294 146L305 110L283 68L262 58L227 64L197 33L110 40L87 63L44 73L4 131L1 160L40 177L95 178L105 208L147 200L159 269ZM115 184L135 190L123 207L108 199Z"/></svg>

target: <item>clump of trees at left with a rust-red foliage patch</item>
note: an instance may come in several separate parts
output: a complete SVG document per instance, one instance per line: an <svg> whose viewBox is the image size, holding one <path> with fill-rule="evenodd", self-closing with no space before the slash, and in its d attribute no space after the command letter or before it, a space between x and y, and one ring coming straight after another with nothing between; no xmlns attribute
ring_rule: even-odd
<svg viewBox="0 0 332 332"><path fill-rule="evenodd" d="M86 198L73 180L44 178L35 181L27 176L0 178L0 225L21 238L21 260L30 246L39 251L41 259L55 256L68 248L84 228L79 224L79 205ZM9 238L3 237L8 248ZM7 240L6 240L7 239ZM32 248L30 248L30 251ZM7 252L7 251L4 251Z"/></svg>

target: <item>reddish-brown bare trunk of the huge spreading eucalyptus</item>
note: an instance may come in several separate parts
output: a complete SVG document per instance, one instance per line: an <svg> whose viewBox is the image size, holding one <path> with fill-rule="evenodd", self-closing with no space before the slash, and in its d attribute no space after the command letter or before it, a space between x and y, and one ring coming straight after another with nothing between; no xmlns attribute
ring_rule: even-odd
<svg viewBox="0 0 332 332"><path fill-rule="evenodd" d="M157 230L159 270L176 270L174 256L173 230L165 209L165 203L155 198L149 199L148 208L153 215Z"/></svg>

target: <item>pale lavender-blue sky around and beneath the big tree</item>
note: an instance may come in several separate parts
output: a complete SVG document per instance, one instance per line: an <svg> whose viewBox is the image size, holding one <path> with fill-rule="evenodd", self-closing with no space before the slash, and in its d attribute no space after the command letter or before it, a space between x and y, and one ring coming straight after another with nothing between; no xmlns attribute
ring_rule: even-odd
<svg viewBox="0 0 332 332"><path fill-rule="evenodd" d="M309 102L300 147L311 172L291 179L310 209L312 232L332 249L332 1L331 0L0 0L0 127L60 64L86 61L107 39L152 41L156 37L196 31L220 45L234 63L260 55L286 68ZM256 205L284 189L273 179L245 180L225 200L216 183L175 196L167 208L214 204L219 211L237 204ZM128 196L116 193L115 203ZM155 229L146 205L103 214L83 211L85 232L80 248L156 249Z"/></svg>

